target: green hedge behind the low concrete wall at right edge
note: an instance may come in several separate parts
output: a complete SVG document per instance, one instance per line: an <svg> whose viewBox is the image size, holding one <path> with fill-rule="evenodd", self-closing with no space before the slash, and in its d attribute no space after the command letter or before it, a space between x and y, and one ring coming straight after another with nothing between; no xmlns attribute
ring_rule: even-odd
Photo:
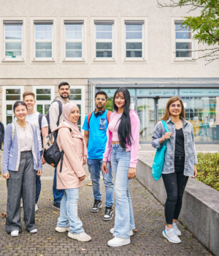
<svg viewBox="0 0 219 256"><path fill-rule="evenodd" d="M196 179L219 191L219 152L214 154L199 153L197 155L198 176Z"/></svg>

